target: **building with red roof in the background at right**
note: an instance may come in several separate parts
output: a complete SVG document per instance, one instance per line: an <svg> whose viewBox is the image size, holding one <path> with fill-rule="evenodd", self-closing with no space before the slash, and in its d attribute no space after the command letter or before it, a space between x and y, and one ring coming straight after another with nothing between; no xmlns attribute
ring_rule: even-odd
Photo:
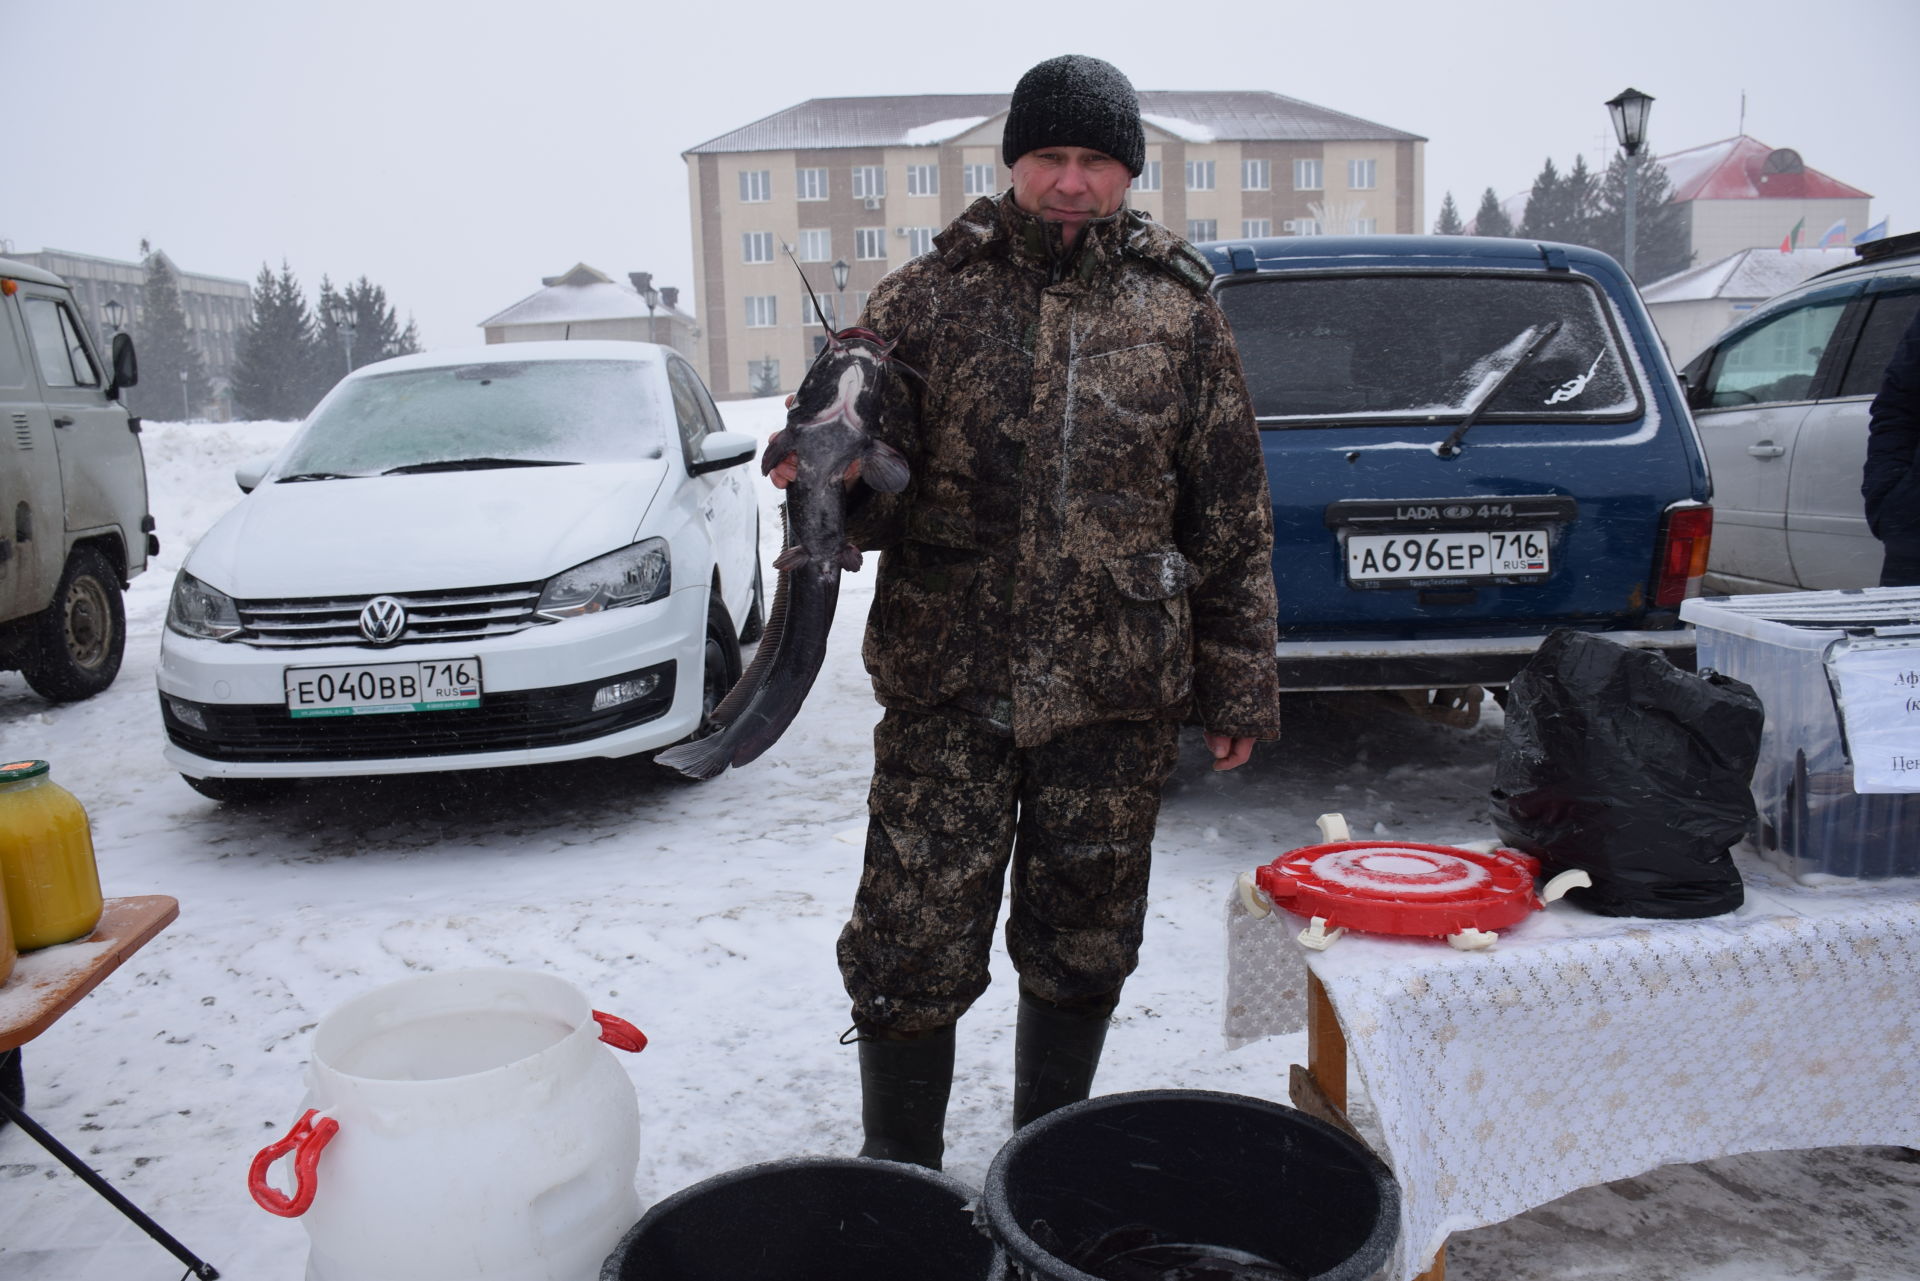
<svg viewBox="0 0 1920 1281"><path fill-rule="evenodd" d="M1799 246L1814 248L1836 223L1845 244L1866 230L1872 196L1818 169L1799 152L1745 134L1661 156L1672 202L1688 209L1693 263L1740 250L1778 250L1801 227Z"/></svg>

